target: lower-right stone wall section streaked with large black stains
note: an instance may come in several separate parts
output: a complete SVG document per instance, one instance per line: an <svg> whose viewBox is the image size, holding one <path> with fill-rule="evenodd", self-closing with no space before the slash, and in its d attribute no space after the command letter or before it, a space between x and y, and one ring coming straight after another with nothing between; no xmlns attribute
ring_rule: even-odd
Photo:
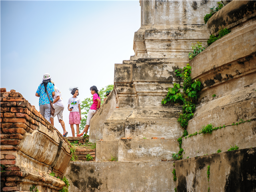
<svg viewBox="0 0 256 192"><path fill-rule="evenodd" d="M176 161L177 191L208 191L209 187L214 192L253 192L256 188L255 162L256 148Z"/></svg>

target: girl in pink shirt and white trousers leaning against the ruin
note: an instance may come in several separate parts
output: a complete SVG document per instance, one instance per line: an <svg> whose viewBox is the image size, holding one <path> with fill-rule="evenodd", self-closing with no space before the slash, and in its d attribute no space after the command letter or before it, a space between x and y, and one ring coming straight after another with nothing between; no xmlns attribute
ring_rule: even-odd
<svg viewBox="0 0 256 192"><path fill-rule="evenodd" d="M87 120L86 120L86 126L84 128L84 130L82 131L82 133L77 134L76 136L81 137L84 135L84 133L87 134L87 131L90 127L90 121L91 118L94 116L94 114L99 110L100 108L100 95L98 94L98 89L96 86L92 86L90 87L91 90L91 94L93 95L93 104L90 107L89 111L88 111L88 115L87 115Z"/></svg>

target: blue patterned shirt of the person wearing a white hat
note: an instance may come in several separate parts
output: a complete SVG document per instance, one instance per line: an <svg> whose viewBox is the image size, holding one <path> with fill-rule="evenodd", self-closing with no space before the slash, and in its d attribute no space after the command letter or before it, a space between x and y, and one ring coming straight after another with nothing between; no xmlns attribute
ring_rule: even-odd
<svg viewBox="0 0 256 192"><path fill-rule="evenodd" d="M54 86L52 83L48 83L47 84L47 92L49 94L49 97L50 97L50 100L53 102L53 99L52 99L52 92L54 92ZM39 105L44 105L44 104L48 104L50 103L49 99L48 99L48 96L44 90L44 84L40 84L38 86L38 89L37 89L37 94L40 96L39 97Z"/></svg>

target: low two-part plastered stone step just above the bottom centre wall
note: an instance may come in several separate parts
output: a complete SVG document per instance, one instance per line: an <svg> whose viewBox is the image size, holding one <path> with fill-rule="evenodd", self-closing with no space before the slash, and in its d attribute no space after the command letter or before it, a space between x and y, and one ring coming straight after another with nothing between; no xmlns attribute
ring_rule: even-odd
<svg viewBox="0 0 256 192"><path fill-rule="evenodd" d="M121 139L98 141L96 161L116 159L119 162L145 162L173 160L172 154L179 151L176 139Z"/></svg>

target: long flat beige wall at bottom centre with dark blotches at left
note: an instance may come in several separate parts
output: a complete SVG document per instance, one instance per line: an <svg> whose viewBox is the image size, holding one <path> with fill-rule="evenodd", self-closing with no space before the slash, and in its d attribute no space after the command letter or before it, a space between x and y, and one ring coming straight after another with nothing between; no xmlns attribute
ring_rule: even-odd
<svg viewBox="0 0 256 192"><path fill-rule="evenodd" d="M70 162L64 175L72 192L174 192L172 170L173 162Z"/></svg>

